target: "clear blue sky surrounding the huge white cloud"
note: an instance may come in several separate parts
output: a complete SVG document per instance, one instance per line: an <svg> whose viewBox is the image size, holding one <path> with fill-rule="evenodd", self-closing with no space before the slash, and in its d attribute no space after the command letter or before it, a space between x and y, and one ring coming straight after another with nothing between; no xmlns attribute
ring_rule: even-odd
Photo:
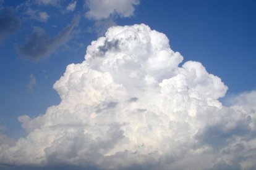
<svg viewBox="0 0 256 170"><path fill-rule="evenodd" d="M74 2L74 10L67 10ZM0 27L0 120L7 134L17 137L22 133L17 116L40 115L59 103L52 88L54 82L69 63L82 62L86 47L109 25L145 23L166 34L171 48L181 52L184 62L203 63L209 73L219 76L229 87L228 95L256 87L255 1L140 1L128 17L113 14L100 19L87 17L85 13L90 9L85 4L1 1L1 25L14 24L9 32L5 30L8 28ZM40 18L43 12L47 17ZM54 44L54 38L72 25L75 17L79 17L79 23ZM97 22L101 26L96 26ZM32 44L24 49L26 41L36 30L44 30L43 36L49 38L40 46L53 42L53 47L27 56ZM30 76L36 82L28 87Z"/></svg>

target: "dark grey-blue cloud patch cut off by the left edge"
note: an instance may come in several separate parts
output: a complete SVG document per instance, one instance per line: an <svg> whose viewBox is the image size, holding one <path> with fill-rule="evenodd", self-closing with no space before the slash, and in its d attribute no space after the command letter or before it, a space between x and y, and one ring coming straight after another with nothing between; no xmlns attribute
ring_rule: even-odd
<svg viewBox="0 0 256 170"><path fill-rule="evenodd" d="M0 15L0 41L14 33L19 27L20 19L15 17L12 9L7 9Z"/></svg>

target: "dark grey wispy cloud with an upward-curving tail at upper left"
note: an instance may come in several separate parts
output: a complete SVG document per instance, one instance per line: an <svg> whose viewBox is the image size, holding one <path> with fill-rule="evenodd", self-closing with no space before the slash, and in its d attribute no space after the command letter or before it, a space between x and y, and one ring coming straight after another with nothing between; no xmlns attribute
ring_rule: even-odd
<svg viewBox="0 0 256 170"><path fill-rule="evenodd" d="M20 52L25 59L38 61L45 59L59 46L65 44L72 37L72 31L79 24L79 16L73 18L72 22L66 26L55 37L50 37L45 30L35 27L32 36L20 47Z"/></svg>

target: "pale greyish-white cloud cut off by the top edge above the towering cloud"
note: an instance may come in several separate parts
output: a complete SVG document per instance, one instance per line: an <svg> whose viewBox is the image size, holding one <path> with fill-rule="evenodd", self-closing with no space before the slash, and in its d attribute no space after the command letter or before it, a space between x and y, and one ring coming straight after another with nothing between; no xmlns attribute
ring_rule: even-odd
<svg viewBox="0 0 256 170"><path fill-rule="evenodd" d="M87 0L86 6L89 11L85 16L93 20L106 19L115 14L130 17L134 14L134 6L139 3L139 0Z"/></svg>

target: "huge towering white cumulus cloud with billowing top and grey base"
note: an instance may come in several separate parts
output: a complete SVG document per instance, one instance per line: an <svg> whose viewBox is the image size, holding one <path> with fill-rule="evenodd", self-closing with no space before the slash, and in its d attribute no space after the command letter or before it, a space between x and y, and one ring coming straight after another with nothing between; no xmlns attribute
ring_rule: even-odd
<svg viewBox="0 0 256 170"><path fill-rule="evenodd" d="M18 167L255 169L256 93L231 107L228 87L200 62L182 63L146 25L113 26L54 84L61 103L19 117L27 137L0 145ZM249 100L249 103L239 101Z"/></svg>

